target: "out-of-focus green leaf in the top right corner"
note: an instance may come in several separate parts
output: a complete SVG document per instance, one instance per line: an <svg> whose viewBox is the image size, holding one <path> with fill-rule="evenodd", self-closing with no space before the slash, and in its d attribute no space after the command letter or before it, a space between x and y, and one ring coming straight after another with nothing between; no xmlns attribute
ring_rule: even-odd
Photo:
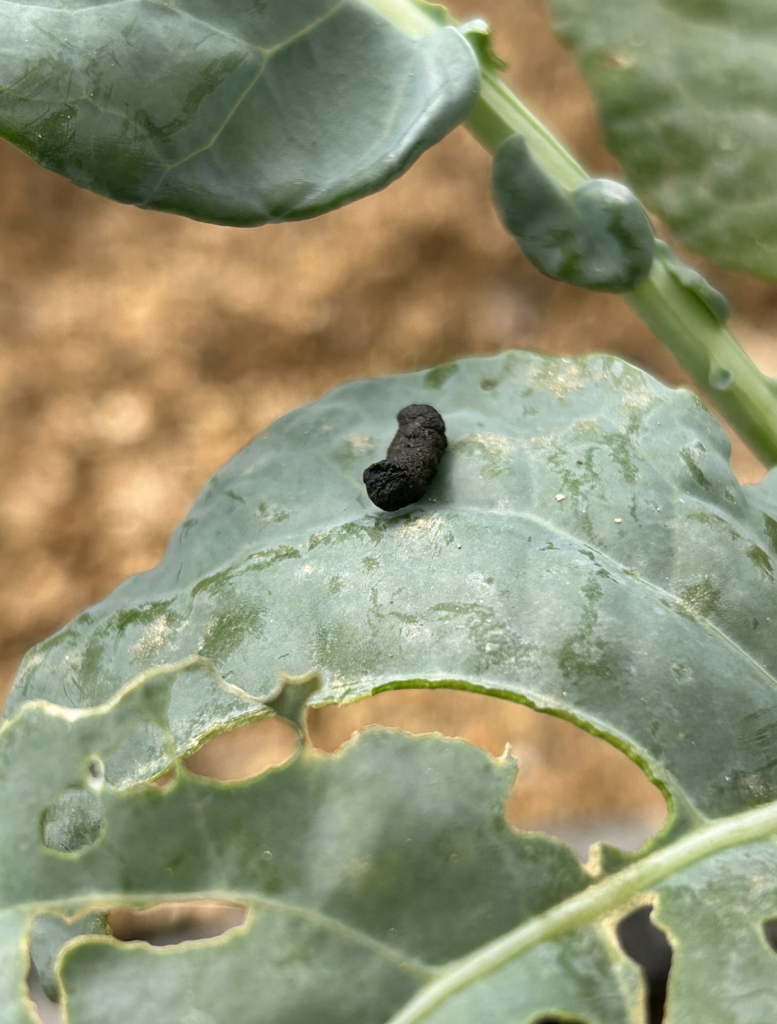
<svg viewBox="0 0 777 1024"><path fill-rule="evenodd" d="M771 0L549 0L606 141L690 249L777 276Z"/></svg>

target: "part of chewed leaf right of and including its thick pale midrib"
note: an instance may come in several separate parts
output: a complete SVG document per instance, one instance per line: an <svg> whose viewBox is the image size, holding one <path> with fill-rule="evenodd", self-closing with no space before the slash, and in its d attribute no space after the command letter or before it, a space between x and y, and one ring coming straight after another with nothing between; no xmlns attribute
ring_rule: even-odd
<svg viewBox="0 0 777 1024"><path fill-rule="evenodd" d="M560 997L554 1013L570 1012L566 1000L561 1000L568 987L579 984L580 976L596 992L602 979L611 981L617 970L617 965L608 968L591 955L596 930L588 922L602 921L610 900L623 897L638 879L638 885L651 888L650 895L660 907L654 914L656 923L668 929L675 941L664 1019L716 1024L771 1020L777 959L763 926L777 911L775 840L775 805L702 829L592 886L544 919L516 929L451 968L396 1014L391 1024L422 1020L424 1024L473 1020L499 1024L508 1008L515 1013L510 1020L529 1024L536 1012L532 995L545 986L549 990L557 986ZM596 909L595 904L599 904ZM610 925L617 916L613 914ZM551 998L549 992L549 1002ZM572 1007L575 1018L586 1020L627 1024L645 1019L636 1002L632 1017L614 1000L611 1006L590 1008L580 991L575 991Z"/></svg>

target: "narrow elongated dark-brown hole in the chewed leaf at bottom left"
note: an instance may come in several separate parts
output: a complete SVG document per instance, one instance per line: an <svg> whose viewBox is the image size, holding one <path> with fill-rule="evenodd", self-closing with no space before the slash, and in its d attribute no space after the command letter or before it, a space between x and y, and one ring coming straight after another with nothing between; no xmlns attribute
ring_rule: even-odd
<svg viewBox="0 0 777 1024"><path fill-rule="evenodd" d="M147 910L112 910L109 924L123 942L142 939L155 946L177 945L192 939L213 939L244 925L248 910L240 903L189 900L160 903Z"/></svg>

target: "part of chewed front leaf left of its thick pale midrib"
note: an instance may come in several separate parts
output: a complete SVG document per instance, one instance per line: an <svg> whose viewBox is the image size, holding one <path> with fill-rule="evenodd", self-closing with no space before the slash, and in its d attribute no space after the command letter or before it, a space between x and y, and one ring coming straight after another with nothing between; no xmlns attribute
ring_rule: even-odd
<svg viewBox="0 0 777 1024"><path fill-rule="evenodd" d="M216 783L178 766L165 791L104 784L100 842L76 857L48 849L45 808L91 785L89 763L107 760L139 724L157 724L174 688L171 675L146 678L105 708L63 716L31 703L5 723L0 858L13 869L0 877L0 989L14 965L24 976L36 913L47 915L36 935L43 932L50 958L51 914L210 897L250 910L229 941L164 954L72 942L69 1019L172 1024L189 1009L204 1015L197 1020L241 1024L261 1005L268 1022L363 1024L400 1007L438 966L590 882L571 850L507 826L513 763L458 740L383 730L336 757L303 749L247 783ZM16 907L26 916L12 932L3 919ZM24 1020L20 1009L12 985L0 990L2 1024Z"/></svg>

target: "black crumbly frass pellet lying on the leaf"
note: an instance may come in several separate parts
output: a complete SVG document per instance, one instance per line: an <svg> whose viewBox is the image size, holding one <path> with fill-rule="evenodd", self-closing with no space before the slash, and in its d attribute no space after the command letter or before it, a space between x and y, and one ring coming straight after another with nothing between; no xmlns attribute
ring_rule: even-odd
<svg viewBox="0 0 777 1024"><path fill-rule="evenodd" d="M406 406L396 419L399 429L386 458L368 466L363 475L370 501L384 512L424 497L447 446L445 424L431 406Z"/></svg>

